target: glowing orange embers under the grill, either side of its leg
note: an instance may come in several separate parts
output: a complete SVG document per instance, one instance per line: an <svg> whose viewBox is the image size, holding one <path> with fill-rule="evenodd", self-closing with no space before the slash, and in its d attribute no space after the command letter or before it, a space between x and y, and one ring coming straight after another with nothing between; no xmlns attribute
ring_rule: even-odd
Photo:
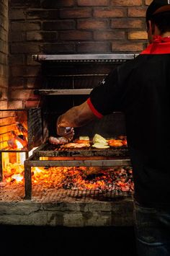
<svg viewBox="0 0 170 256"><path fill-rule="evenodd" d="M24 167L9 164L4 170L8 183L24 184ZM130 167L32 167L32 185L71 190L133 191Z"/></svg>

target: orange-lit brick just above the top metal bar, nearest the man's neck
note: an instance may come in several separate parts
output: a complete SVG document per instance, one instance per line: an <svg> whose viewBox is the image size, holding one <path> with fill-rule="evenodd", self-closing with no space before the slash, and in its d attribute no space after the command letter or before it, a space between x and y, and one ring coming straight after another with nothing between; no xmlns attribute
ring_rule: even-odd
<svg viewBox="0 0 170 256"><path fill-rule="evenodd" d="M113 42L112 52L140 52L144 49L143 43Z"/></svg>

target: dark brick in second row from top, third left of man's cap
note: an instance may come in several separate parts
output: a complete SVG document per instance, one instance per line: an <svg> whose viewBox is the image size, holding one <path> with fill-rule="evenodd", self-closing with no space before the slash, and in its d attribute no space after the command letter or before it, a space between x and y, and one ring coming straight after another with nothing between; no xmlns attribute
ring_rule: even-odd
<svg viewBox="0 0 170 256"><path fill-rule="evenodd" d="M62 19L89 18L91 9L65 9L60 11L60 16Z"/></svg>

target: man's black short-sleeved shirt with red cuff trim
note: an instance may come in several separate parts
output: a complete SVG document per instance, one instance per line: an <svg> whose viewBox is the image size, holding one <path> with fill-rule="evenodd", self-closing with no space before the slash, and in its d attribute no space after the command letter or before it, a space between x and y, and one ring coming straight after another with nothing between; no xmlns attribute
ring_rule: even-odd
<svg viewBox="0 0 170 256"><path fill-rule="evenodd" d="M144 206L170 206L170 42L166 52L146 52L118 66L89 98L101 116L125 113L135 199Z"/></svg>

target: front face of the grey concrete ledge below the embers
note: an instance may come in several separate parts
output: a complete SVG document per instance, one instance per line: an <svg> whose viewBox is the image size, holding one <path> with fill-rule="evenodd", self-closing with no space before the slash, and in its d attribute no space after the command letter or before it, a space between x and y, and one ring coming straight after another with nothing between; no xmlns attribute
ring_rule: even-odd
<svg viewBox="0 0 170 256"><path fill-rule="evenodd" d="M0 224L33 226L133 226L133 200L115 202L0 202Z"/></svg>

